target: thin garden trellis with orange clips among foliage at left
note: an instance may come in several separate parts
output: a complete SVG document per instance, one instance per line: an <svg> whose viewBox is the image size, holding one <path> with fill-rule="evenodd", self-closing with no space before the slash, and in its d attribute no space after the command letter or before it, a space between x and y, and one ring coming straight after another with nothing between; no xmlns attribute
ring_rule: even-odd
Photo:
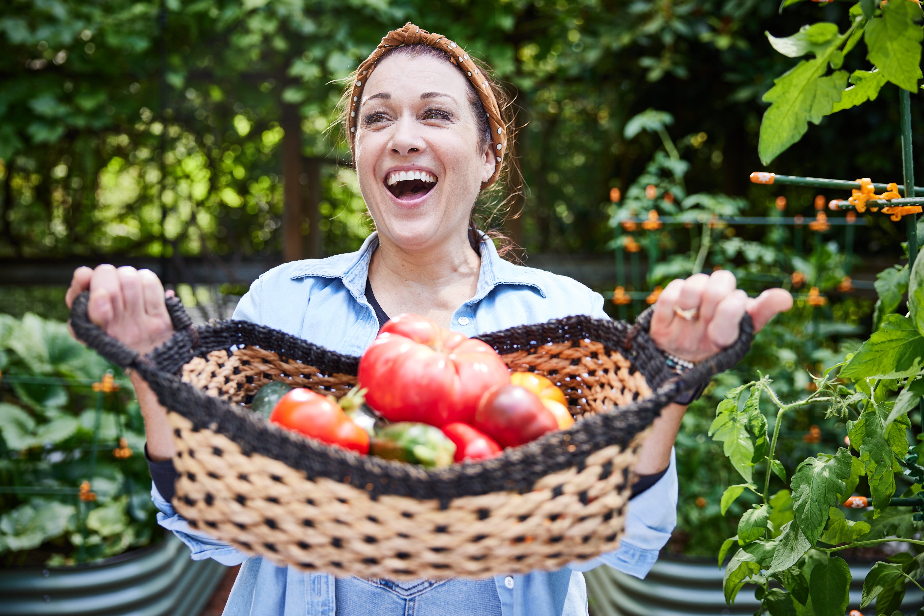
<svg viewBox="0 0 924 616"><path fill-rule="evenodd" d="M79 480L79 486L73 488L46 487L46 486L0 486L0 494L28 494L28 495L48 495L48 496L73 496L77 506L78 526L83 541L78 548L77 562L86 560L85 544L87 539L87 514L90 513L93 503L96 501L96 494L92 491L92 480L96 473L96 461L101 449L113 449L113 455L116 459L126 459L131 456L131 450L128 448L128 441L124 437L124 427L121 420L116 421L119 441L117 443L101 443L98 435L100 425L103 419L103 406L107 399L111 399L111 393L121 389L121 386L113 377L112 371L103 374L100 380L92 379L61 379L57 377L34 377L0 374L0 385L22 383L29 385L62 385L70 387L87 387L96 393L96 405L93 412L93 436L90 446L89 469L84 478ZM131 502L131 478L128 474L123 475L125 481L123 492L129 495L128 507L132 507ZM130 514L129 509L129 514Z"/></svg>

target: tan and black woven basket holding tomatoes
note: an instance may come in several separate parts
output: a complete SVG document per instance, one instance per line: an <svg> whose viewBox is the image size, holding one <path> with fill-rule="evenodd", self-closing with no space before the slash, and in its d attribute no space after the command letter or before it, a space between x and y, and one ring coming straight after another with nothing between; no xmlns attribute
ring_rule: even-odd
<svg viewBox="0 0 924 616"><path fill-rule="evenodd" d="M746 317L735 344L681 380L648 336L650 311L635 326L579 316L481 336L512 370L561 387L577 422L492 460L426 470L306 439L245 406L271 380L343 395L359 357L246 321L193 328L177 300L168 308L177 332L148 356L92 325L86 294L71 323L168 409L176 512L279 565L391 579L554 570L615 550L651 422L753 337Z"/></svg>

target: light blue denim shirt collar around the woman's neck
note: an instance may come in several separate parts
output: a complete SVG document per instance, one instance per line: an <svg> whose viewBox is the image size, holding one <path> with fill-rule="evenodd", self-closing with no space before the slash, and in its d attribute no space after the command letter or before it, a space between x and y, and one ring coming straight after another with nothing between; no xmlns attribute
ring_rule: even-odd
<svg viewBox="0 0 924 616"><path fill-rule="evenodd" d="M373 231L356 252L335 255L327 259L303 261L301 266L292 272L291 278L293 280L306 276L341 278L352 296L357 298L365 296L366 279L369 278L369 262L375 248L379 248L377 231ZM541 296L546 296L539 272L501 259L491 238L483 233L481 234L480 252L481 269L478 276L478 287L475 290L475 296L468 300L469 304L479 302L499 284L526 284L535 287Z"/></svg>

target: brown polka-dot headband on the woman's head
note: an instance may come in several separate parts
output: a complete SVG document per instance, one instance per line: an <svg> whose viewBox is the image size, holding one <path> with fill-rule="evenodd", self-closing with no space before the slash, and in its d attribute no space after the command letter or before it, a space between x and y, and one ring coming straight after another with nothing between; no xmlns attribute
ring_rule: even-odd
<svg viewBox="0 0 924 616"><path fill-rule="evenodd" d="M493 184L497 175L501 171L501 164L504 162L504 151L507 146L506 127L501 118L501 110L497 106L497 99L494 98L494 92L491 89L491 83L485 79L484 74L478 66L471 61L455 42L450 41L440 34L431 34L427 30L420 30L411 22L407 22L401 30L392 30L384 36L379 46L375 48L366 60L359 65L356 75L356 83L353 84L353 98L349 103L349 147L350 150L356 151L356 127L359 124L359 103L362 95L362 87L366 85L375 63L386 52L400 47L402 45L428 45L438 49L449 56L449 61L457 64L468 75L468 79L478 92L481 104L484 105L484 111L488 115L488 126L491 127L492 151L497 165L494 167L493 175L485 182L482 187Z"/></svg>

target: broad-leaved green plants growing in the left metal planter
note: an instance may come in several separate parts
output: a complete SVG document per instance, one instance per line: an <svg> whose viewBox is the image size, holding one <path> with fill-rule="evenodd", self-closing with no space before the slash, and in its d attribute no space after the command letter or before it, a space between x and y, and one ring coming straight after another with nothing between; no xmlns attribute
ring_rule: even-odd
<svg viewBox="0 0 924 616"><path fill-rule="evenodd" d="M0 315L0 359L0 485L48 490L0 495L0 562L66 565L150 543L151 479L130 381L117 378L124 393L107 395L97 410L89 385L115 367L74 341L64 323L33 314ZM112 450L122 438L133 455L119 460ZM85 479L95 501L77 499Z"/></svg>

